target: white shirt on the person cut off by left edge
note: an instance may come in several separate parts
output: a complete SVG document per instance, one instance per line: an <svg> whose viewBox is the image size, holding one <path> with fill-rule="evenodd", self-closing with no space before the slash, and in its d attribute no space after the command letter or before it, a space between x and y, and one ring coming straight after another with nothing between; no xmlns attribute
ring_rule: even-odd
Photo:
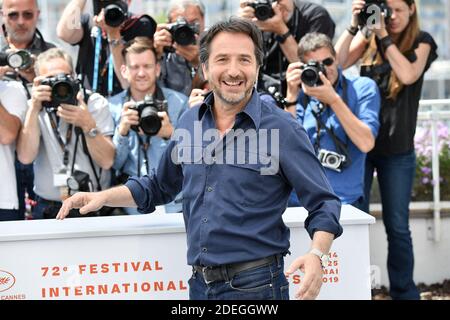
<svg viewBox="0 0 450 320"><path fill-rule="evenodd" d="M23 123L27 111L27 97L22 84L0 80L0 103L10 114ZM16 142L0 144L0 209L18 209L14 151Z"/></svg>

